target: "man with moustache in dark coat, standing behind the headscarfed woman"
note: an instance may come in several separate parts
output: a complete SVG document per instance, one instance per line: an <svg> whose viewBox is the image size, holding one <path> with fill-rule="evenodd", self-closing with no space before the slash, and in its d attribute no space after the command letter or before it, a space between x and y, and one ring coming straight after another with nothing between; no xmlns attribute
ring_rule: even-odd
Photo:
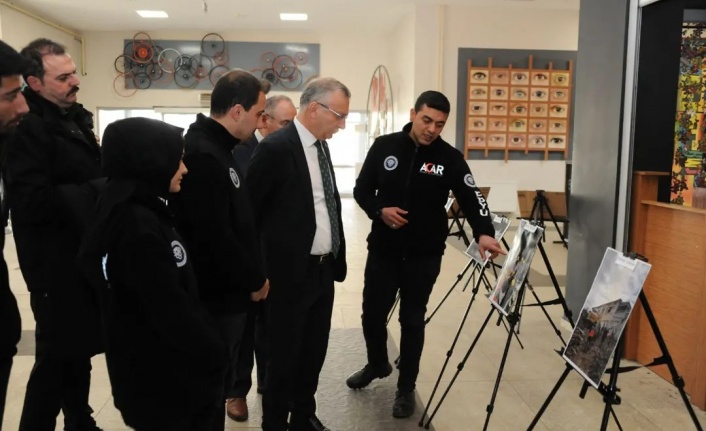
<svg viewBox="0 0 706 431"><path fill-rule="evenodd" d="M36 322L35 363L21 431L94 431L88 391L101 350L97 305L76 256L101 177L90 112L76 103L79 79L65 48L37 39L23 91L29 114L8 141L4 177L17 257Z"/></svg>

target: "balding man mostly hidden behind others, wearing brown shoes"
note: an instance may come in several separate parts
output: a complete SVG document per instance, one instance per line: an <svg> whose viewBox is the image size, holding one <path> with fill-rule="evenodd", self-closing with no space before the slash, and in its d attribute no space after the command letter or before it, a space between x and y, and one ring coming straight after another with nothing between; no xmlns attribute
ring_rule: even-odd
<svg viewBox="0 0 706 431"><path fill-rule="evenodd" d="M266 136L286 127L297 116L297 108L292 99L277 95L267 98L265 113L261 117L262 127L245 142L233 148L233 158L243 176L247 175L250 158L257 144ZM249 304L248 318L245 322L243 339L235 357L235 385L226 394L228 417L237 422L248 420L247 395L252 387L252 369L257 361L257 393L265 387L265 369L267 367L267 329L265 327L265 301Z"/></svg>

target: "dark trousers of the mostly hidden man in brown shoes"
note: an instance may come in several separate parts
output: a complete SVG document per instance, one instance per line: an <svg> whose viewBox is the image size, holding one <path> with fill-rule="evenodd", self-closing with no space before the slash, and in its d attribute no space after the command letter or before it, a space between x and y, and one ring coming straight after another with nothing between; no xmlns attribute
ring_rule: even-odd
<svg viewBox="0 0 706 431"><path fill-rule="evenodd" d="M252 369L255 363L257 363L257 387L265 387L267 338L265 301L253 302L248 309L238 356L233 361L235 384L226 393L227 398L245 398L248 395L252 388Z"/></svg>

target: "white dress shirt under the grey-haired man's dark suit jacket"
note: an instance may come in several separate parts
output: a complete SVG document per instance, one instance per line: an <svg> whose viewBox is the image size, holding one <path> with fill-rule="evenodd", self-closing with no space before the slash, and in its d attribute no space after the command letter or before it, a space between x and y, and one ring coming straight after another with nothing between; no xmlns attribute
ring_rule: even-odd
<svg viewBox="0 0 706 431"><path fill-rule="evenodd" d="M311 246L311 254L318 256L331 253L331 220L329 219L328 209L326 208L326 196L324 195L324 186L321 181L321 169L328 169L329 167L319 166L318 150L314 145L317 139L314 135L312 135L296 117L294 118L294 125L297 127L299 139L302 141L306 164L309 166L311 191L314 195L316 234L314 235L314 244ZM331 178L333 178L333 172L331 174ZM336 214L331 214L331 216L336 217Z"/></svg>

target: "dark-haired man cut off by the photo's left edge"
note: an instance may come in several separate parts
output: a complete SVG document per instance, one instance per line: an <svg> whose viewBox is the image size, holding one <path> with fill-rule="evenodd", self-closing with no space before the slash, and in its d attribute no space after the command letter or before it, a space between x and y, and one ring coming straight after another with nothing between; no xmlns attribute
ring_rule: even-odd
<svg viewBox="0 0 706 431"><path fill-rule="evenodd" d="M3 153L5 138L29 111L27 101L21 92L22 72L26 67L27 63L22 56L0 40L0 155ZM0 213L2 226L5 226L7 211L5 211L3 189L2 179L0 179ZM17 342L20 341L22 329L17 301L10 291L7 264L2 254L4 247L3 232L0 233L0 427L2 427L5 412L5 396L12 368L12 357L17 353Z"/></svg>

